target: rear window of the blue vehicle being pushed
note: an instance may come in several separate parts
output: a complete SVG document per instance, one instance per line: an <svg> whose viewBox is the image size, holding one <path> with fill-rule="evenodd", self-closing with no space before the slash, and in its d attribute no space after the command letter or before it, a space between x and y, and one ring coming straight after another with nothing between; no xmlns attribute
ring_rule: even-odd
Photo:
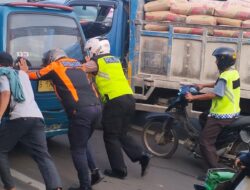
<svg viewBox="0 0 250 190"><path fill-rule="evenodd" d="M32 68L40 68L42 56L54 48L83 60L83 42L75 20L45 14L11 14L8 18L7 49L14 58L26 57Z"/></svg>

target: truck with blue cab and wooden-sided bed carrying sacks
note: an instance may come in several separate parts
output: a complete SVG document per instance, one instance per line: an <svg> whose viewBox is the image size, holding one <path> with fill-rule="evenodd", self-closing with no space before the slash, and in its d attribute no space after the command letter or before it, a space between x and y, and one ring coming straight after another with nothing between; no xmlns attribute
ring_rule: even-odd
<svg viewBox="0 0 250 190"><path fill-rule="evenodd" d="M53 0L47 0L52 3ZM86 38L104 35L111 53L122 60L134 90L136 109L163 112L168 99L181 83L211 83L218 71L214 49L226 46L237 52L236 67L241 76L242 114L250 114L249 28L146 21L147 0L62 0L74 9ZM58 3L58 1L56 2ZM165 26L167 31L145 30L146 24ZM175 27L201 28L201 34L176 33ZM237 37L209 35L211 30L237 30ZM190 104L194 117L209 109L209 101Z"/></svg>

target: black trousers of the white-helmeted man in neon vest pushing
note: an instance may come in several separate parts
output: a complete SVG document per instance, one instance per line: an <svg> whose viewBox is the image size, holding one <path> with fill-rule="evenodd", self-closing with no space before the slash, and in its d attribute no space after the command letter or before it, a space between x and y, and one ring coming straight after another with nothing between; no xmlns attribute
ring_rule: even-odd
<svg viewBox="0 0 250 190"><path fill-rule="evenodd" d="M113 170L126 170L124 152L131 161L139 161L142 147L127 134L130 120L135 112L135 100L132 95L123 95L108 101L103 109L103 135L109 162Z"/></svg>

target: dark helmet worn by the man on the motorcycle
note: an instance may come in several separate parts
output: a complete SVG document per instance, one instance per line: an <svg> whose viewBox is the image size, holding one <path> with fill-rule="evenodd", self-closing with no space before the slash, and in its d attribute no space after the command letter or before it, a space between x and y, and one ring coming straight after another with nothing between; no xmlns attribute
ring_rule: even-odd
<svg viewBox="0 0 250 190"><path fill-rule="evenodd" d="M236 62L236 52L232 48L220 47L214 50L213 56L216 57L219 71L224 71Z"/></svg>

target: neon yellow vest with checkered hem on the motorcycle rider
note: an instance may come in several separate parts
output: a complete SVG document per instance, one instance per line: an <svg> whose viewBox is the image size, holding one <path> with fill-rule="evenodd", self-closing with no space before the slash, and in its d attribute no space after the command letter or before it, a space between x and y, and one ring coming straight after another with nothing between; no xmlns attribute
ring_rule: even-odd
<svg viewBox="0 0 250 190"><path fill-rule="evenodd" d="M226 81L226 89L223 97L212 100L210 113L230 118L240 112L240 77L237 70L226 70L220 74L219 79ZM223 117L222 117L223 118Z"/></svg>

